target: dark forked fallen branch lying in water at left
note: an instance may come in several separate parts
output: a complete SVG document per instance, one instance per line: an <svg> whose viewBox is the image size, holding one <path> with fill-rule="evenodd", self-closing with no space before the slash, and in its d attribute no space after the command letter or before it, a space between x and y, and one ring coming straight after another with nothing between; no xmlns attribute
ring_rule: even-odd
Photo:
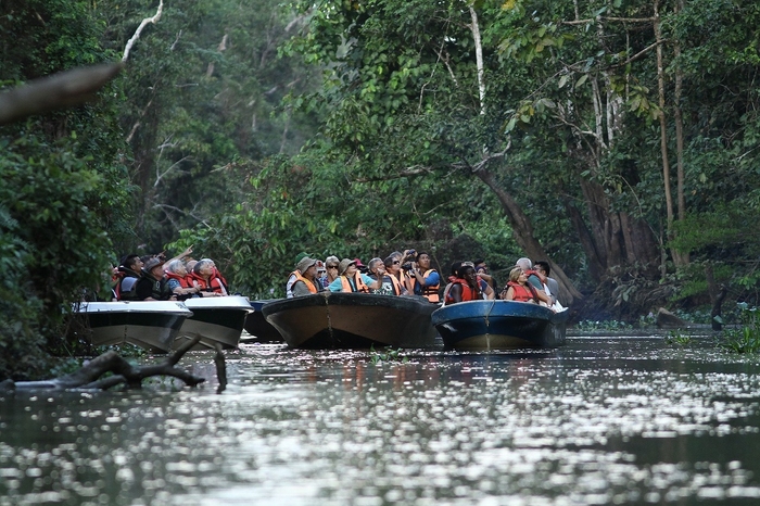
<svg viewBox="0 0 760 506"><path fill-rule="evenodd" d="M170 376L185 382L189 387L195 387L205 381L205 378L193 376L175 367L188 350L198 344L201 336L188 340L169 355L162 364L134 366L121 357L116 352L109 351L85 364L76 372L45 381L18 381L5 380L0 383L0 392L11 390L107 390L119 384L126 384L130 389L139 389L142 380L153 376ZM101 378L106 372L113 376Z"/></svg>

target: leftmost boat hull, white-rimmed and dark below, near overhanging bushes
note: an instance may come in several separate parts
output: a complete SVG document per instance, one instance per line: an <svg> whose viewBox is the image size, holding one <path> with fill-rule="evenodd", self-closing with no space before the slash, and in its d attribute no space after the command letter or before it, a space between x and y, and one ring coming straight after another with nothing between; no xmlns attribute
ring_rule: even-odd
<svg viewBox="0 0 760 506"><path fill-rule="evenodd" d="M167 353L192 312L181 302L81 302L74 307L81 317L76 333L97 346L135 344Z"/></svg>

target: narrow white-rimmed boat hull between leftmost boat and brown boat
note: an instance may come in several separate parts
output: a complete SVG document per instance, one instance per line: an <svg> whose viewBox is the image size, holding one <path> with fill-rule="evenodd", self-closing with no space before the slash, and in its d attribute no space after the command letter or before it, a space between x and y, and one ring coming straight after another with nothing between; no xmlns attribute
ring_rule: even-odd
<svg viewBox="0 0 760 506"><path fill-rule="evenodd" d="M236 349L245 317L253 311L249 300L241 295L191 298L185 301L185 305L192 316L185 320L174 347L185 339L201 334L201 341L193 350L213 350L216 343L224 350Z"/></svg>

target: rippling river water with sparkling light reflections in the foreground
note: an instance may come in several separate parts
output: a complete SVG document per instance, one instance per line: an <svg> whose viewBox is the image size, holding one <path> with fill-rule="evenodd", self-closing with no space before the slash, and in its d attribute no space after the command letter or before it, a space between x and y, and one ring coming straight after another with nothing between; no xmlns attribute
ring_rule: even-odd
<svg viewBox="0 0 760 506"><path fill-rule="evenodd" d="M210 378L0 401L0 505L760 504L756 357L662 337L555 351L243 345Z"/></svg>

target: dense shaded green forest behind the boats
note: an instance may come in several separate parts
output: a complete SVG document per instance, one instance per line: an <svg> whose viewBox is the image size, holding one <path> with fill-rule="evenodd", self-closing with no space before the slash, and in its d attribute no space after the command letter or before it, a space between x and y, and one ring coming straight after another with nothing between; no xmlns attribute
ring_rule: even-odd
<svg viewBox="0 0 760 506"><path fill-rule="evenodd" d="M0 127L3 376L66 352L123 254L190 244L252 298L301 251L416 248L548 260L579 318L755 304L759 27L730 0L0 0L5 89L125 60Z"/></svg>

